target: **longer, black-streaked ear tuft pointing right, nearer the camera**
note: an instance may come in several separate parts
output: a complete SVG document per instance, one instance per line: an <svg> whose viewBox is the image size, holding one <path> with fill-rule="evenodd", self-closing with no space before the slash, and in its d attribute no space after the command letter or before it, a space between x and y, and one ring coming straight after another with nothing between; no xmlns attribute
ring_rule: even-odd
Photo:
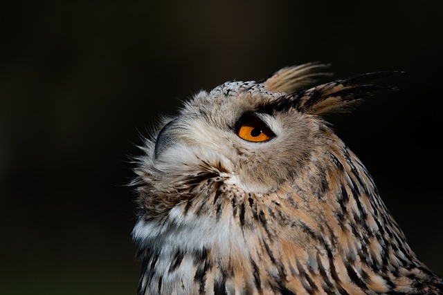
<svg viewBox="0 0 443 295"><path fill-rule="evenodd" d="M372 80L397 76L401 71L383 71L356 75L346 79L322 84L307 91L288 97L301 113L323 115L349 111L350 107L365 97L387 91L397 91L396 87L372 84Z"/></svg>

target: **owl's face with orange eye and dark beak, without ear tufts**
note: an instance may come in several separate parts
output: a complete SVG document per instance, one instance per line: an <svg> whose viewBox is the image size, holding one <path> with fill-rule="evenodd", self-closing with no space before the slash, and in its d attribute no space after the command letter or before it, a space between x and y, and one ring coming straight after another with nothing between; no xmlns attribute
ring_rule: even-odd
<svg viewBox="0 0 443 295"><path fill-rule="evenodd" d="M279 99L254 82L202 91L156 135L152 165L174 180L212 167L248 193L275 191L309 160L319 132L312 115L273 109Z"/></svg>

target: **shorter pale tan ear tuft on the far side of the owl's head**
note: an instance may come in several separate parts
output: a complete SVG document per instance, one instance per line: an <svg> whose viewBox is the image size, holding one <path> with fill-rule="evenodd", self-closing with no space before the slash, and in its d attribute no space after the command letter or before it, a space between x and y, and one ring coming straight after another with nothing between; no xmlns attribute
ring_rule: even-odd
<svg viewBox="0 0 443 295"><path fill-rule="evenodd" d="M329 64L320 64L318 62L289 66L257 82L264 84L268 91L282 92L290 95L301 91L302 88L312 86L323 77L332 76L332 73L324 72L325 68L328 67Z"/></svg>

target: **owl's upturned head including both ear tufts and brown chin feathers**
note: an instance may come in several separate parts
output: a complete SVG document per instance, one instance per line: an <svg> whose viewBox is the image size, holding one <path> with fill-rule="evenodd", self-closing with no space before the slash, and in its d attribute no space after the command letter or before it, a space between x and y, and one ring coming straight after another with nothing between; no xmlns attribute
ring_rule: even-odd
<svg viewBox="0 0 443 295"><path fill-rule="evenodd" d="M213 178L246 193L271 193L284 183L313 180L303 174L305 167L330 162L318 153L331 141L340 142L322 115L349 111L363 97L393 90L370 82L398 73L369 73L307 88L331 75L323 72L327 66L302 64L260 82L226 82L197 93L177 115L163 118L137 159L134 183L142 184L143 213L159 218L188 200L193 187Z"/></svg>

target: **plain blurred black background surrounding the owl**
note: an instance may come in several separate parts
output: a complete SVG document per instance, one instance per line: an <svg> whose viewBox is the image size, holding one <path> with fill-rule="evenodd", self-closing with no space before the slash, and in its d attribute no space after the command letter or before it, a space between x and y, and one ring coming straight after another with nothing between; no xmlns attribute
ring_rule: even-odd
<svg viewBox="0 0 443 295"><path fill-rule="evenodd" d="M0 294L135 294L125 184L140 133L201 89L307 61L337 78L406 71L333 123L443 274L443 21L429 2L2 4Z"/></svg>

